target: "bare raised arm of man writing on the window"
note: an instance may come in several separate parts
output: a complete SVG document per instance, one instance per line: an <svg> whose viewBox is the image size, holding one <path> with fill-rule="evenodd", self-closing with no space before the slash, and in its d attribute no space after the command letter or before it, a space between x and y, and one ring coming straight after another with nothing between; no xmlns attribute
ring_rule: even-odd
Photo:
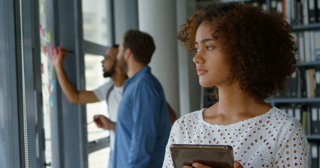
<svg viewBox="0 0 320 168"><path fill-rule="evenodd" d="M58 77L59 84L63 93L67 96L70 103L93 103L99 101L96 95L92 91L78 91L71 82L68 80L67 75L62 67L66 53L57 47L54 51L54 67L56 69L56 74Z"/></svg>

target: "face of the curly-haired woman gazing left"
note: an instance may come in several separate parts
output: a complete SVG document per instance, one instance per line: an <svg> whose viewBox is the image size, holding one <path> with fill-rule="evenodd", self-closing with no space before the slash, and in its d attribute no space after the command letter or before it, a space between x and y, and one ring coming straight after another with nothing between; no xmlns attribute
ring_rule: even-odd
<svg viewBox="0 0 320 168"><path fill-rule="evenodd" d="M227 84L231 70L231 66L224 61L225 56L212 33L212 26L208 21L202 22L196 32L197 53L193 62L196 63L199 83L203 87Z"/></svg>

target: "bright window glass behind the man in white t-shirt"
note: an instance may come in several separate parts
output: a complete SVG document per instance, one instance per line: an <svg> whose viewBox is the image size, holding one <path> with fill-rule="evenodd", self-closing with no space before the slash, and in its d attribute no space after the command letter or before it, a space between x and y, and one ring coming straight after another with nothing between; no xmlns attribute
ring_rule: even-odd
<svg viewBox="0 0 320 168"><path fill-rule="evenodd" d="M109 0L82 0L83 37L84 41L90 42L90 45L85 45L84 48L85 89L87 91L95 90L111 80L103 77L101 64L105 50L112 44L110 2ZM99 48L99 51L96 48ZM86 104L86 111L87 123L93 121L94 115L109 116L106 101L88 103ZM108 137L110 132L98 128L94 123L90 123L87 125L87 133L88 143L94 142L99 146L96 150L89 149L91 151L91 153L88 153L89 168L107 167L110 147L106 147L108 146L105 143L106 141L101 139Z"/></svg>

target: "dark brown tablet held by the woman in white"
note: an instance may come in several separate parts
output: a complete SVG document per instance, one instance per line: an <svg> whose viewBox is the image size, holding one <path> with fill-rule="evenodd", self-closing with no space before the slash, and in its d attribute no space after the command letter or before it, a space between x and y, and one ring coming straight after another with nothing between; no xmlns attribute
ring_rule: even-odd
<svg viewBox="0 0 320 168"><path fill-rule="evenodd" d="M232 168L233 148L229 145L170 145L171 157L175 168L193 163L207 166Z"/></svg>

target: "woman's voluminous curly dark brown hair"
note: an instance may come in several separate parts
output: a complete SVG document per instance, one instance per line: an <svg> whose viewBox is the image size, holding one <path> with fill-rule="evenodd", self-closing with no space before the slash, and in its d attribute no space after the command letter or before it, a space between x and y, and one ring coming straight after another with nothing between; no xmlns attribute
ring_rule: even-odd
<svg viewBox="0 0 320 168"><path fill-rule="evenodd" d="M212 25L212 37L231 65L230 85L249 91L254 100L265 100L286 88L297 59L292 27L261 7L241 3L207 5L180 26L177 39L194 54L196 31L204 21ZM219 98L213 87L213 99Z"/></svg>

